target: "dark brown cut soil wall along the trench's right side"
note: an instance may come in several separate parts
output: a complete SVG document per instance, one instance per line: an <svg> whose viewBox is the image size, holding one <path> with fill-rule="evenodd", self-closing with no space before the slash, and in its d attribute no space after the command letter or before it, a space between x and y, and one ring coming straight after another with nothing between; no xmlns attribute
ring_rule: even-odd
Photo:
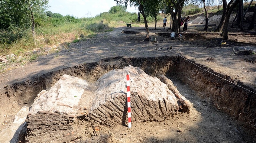
<svg viewBox="0 0 256 143"><path fill-rule="evenodd" d="M202 67L199 68L182 58L179 59L179 63L174 66L175 70L172 71L173 76L179 77L185 84L196 90L202 98L211 98L211 101L218 109L224 110L235 120L241 121L244 127L249 130L256 129L255 90L242 82L231 79L229 76L207 69L207 67L198 65ZM236 83L238 86L230 82Z"/></svg>

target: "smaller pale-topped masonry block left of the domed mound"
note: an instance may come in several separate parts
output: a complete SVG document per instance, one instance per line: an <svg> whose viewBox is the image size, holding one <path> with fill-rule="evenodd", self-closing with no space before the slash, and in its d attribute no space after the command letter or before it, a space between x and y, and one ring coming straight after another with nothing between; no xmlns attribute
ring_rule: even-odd
<svg viewBox="0 0 256 143"><path fill-rule="evenodd" d="M77 138L72 123L79 100L87 86L82 79L63 75L49 91L40 92L26 119L26 140L66 142Z"/></svg>

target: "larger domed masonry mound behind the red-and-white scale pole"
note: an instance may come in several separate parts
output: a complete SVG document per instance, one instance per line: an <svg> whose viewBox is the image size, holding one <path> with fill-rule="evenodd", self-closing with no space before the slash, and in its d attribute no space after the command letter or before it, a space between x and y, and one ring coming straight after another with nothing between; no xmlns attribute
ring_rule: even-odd
<svg viewBox="0 0 256 143"><path fill-rule="evenodd" d="M99 87L89 113L91 119L108 126L128 124L127 74L130 75L131 83L132 122L163 121L184 107L184 101L180 100L186 100L185 97L180 99L182 95L176 92L180 95L176 98L157 77L147 75L138 67L128 66L112 70L97 80L96 85ZM174 86L169 88L177 90Z"/></svg>

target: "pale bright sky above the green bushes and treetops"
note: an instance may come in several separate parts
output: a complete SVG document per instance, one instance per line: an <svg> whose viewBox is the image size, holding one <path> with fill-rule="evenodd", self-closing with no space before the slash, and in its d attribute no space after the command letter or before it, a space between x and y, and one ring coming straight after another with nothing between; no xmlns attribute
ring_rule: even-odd
<svg viewBox="0 0 256 143"><path fill-rule="evenodd" d="M78 18L94 17L103 12L108 12L116 5L114 0L49 0L48 10L63 16L73 15ZM138 12L135 7L128 5L128 12ZM47 10L47 11L48 11Z"/></svg>

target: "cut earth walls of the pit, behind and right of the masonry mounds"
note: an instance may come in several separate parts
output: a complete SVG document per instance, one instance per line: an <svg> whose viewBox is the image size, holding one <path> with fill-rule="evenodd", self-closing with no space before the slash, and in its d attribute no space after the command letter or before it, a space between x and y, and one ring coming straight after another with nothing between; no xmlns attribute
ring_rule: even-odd
<svg viewBox="0 0 256 143"><path fill-rule="evenodd" d="M253 133L256 130L256 95L254 94L256 91L227 75L221 75L203 65L192 64L192 62L178 56L104 58L98 62L64 68L6 86L5 96L9 100L16 101L17 107L31 106L39 92L44 89L48 90L64 74L94 83L113 69L122 69L132 65L140 67L150 76L159 77L163 74L166 77L179 79L195 90L202 99L210 99L217 109L223 110Z"/></svg>

